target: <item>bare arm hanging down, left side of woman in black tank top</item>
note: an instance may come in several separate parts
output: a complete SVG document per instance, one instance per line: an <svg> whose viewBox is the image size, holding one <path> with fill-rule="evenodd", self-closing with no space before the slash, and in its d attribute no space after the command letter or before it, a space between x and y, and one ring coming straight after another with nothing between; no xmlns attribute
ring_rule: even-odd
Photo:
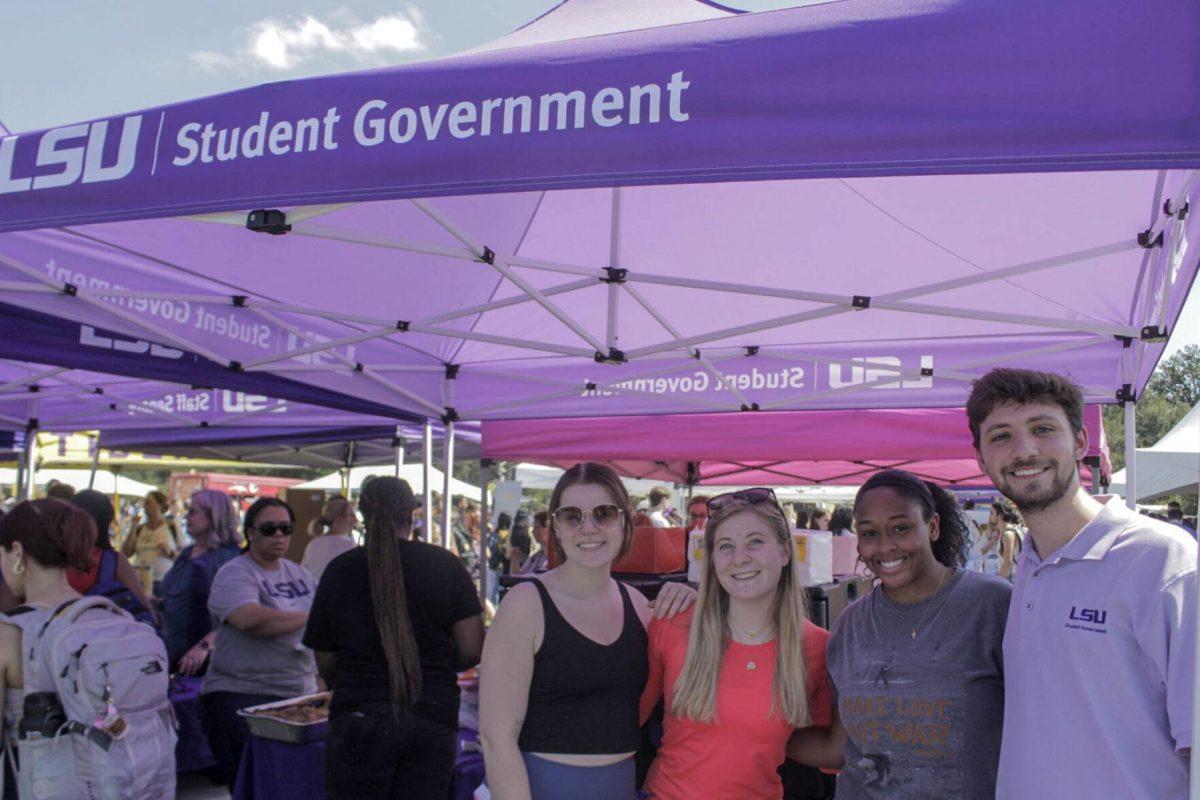
<svg viewBox="0 0 1200 800"><path fill-rule="evenodd" d="M517 739L529 705L529 684L542 626L538 588L522 583L504 597L484 642L479 739L484 745L487 786L496 800L530 798Z"/></svg>

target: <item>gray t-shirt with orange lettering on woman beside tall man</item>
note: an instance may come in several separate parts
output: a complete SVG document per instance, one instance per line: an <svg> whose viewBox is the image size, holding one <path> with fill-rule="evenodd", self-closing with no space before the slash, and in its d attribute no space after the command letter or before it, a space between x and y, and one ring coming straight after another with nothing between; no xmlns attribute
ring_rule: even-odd
<svg viewBox="0 0 1200 800"><path fill-rule="evenodd" d="M827 654L847 733L838 800L996 796L1010 594L958 570L926 601L876 587L842 612Z"/></svg>

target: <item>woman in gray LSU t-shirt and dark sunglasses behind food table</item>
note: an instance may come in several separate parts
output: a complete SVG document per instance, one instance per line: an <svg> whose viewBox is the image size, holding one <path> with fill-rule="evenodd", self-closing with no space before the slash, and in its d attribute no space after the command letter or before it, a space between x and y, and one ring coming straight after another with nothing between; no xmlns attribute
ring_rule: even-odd
<svg viewBox="0 0 1200 800"><path fill-rule="evenodd" d="M317 582L283 558L294 522L287 503L256 500L246 511L246 552L221 567L209 594L217 634L200 716L230 789L247 735L238 709L317 691L312 651L300 644Z"/></svg>

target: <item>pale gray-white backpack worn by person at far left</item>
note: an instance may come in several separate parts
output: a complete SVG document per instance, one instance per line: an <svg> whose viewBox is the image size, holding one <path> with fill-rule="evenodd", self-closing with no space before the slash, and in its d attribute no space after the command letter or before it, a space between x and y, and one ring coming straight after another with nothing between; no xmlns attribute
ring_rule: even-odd
<svg viewBox="0 0 1200 800"><path fill-rule="evenodd" d="M23 720L22 800L174 798L167 651L154 628L100 596L23 616L40 618L12 620L23 631L26 709L30 694L54 693L66 722L49 735Z"/></svg>

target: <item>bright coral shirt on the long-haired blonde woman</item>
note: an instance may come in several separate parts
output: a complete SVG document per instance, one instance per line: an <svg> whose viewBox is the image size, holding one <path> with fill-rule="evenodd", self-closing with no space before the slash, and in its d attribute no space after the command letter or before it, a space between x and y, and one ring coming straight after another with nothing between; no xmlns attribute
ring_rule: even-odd
<svg viewBox="0 0 1200 800"><path fill-rule="evenodd" d="M648 800L779 800L778 769L786 758L792 726L773 714L776 643L730 642L716 688L718 722L696 722L671 711L676 681L688 652L692 613L654 620L649 630L650 678L642 694L643 718L665 699L662 746L646 778ZM830 721L826 643L829 632L805 621L804 667L809 716Z"/></svg>

